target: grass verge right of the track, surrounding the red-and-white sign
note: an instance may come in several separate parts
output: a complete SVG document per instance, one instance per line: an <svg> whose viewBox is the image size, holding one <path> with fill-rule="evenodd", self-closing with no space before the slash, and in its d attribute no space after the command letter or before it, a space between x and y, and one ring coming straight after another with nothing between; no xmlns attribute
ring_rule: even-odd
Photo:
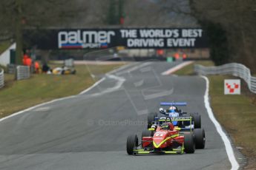
<svg viewBox="0 0 256 170"><path fill-rule="evenodd" d="M209 61L195 64L211 65ZM177 75L193 75L193 64L174 72ZM241 81L241 95L224 95L224 79L231 75L209 75L211 108L220 124L231 136L234 145L249 158L246 169L255 168L256 157L256 95L249 92L246 82Z"/></svg>

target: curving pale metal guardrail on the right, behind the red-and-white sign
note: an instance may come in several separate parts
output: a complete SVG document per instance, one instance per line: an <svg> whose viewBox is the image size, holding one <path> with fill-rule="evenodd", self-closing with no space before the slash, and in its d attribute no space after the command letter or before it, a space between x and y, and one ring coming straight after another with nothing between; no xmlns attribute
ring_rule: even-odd
<svg viewBox="0 0 256 170"><path fill-rule="evenodd" d="M195 64L194 72L200 75L234 75L246 81L249 90L256 93L256 77L252 77L249 68L243 64L231 63L218 67L203 67Z"/></svg>

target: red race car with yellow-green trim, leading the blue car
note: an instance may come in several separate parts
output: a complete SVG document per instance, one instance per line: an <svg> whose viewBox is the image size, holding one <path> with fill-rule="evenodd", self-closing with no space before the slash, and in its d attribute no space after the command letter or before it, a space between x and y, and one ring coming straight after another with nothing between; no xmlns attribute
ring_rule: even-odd
<svg viewBox="0 0 256 170"><path fill-rule="evenodd" d="M171 122L157 127L156 132L142 132L139 144L137 135L129 135L126 143L128 154L190 154L194 153L195 144L192 133L180 134Z"/></svg>

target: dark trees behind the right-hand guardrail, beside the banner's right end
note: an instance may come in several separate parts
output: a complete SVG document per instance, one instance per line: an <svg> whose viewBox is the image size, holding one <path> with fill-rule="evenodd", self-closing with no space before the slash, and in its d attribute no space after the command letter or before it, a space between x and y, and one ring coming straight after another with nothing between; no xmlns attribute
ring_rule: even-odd
<svg viewBox="0 0 256 170"><path fill-rule="evenodd" d="M203 27L211 22L222 27L226 33L225 51L229 54L229 60L222 60L221 64L239 62L256 72L256 1L190 0L190 4L193 15ZM219 50L224 50L223 46Z"/></svg>

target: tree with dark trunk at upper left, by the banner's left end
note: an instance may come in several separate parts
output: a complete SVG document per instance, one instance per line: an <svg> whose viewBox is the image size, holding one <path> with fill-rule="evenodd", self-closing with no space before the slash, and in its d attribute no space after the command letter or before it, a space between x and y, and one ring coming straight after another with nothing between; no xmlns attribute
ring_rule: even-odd
<svg viewBox="0 0 256 170"><path fill-rule="evenodd" d="M0 31L13 35L16 41L16 63L22 63L24 28L64 26L76 10L76 4L68 0L1 0Z"/></svg>

